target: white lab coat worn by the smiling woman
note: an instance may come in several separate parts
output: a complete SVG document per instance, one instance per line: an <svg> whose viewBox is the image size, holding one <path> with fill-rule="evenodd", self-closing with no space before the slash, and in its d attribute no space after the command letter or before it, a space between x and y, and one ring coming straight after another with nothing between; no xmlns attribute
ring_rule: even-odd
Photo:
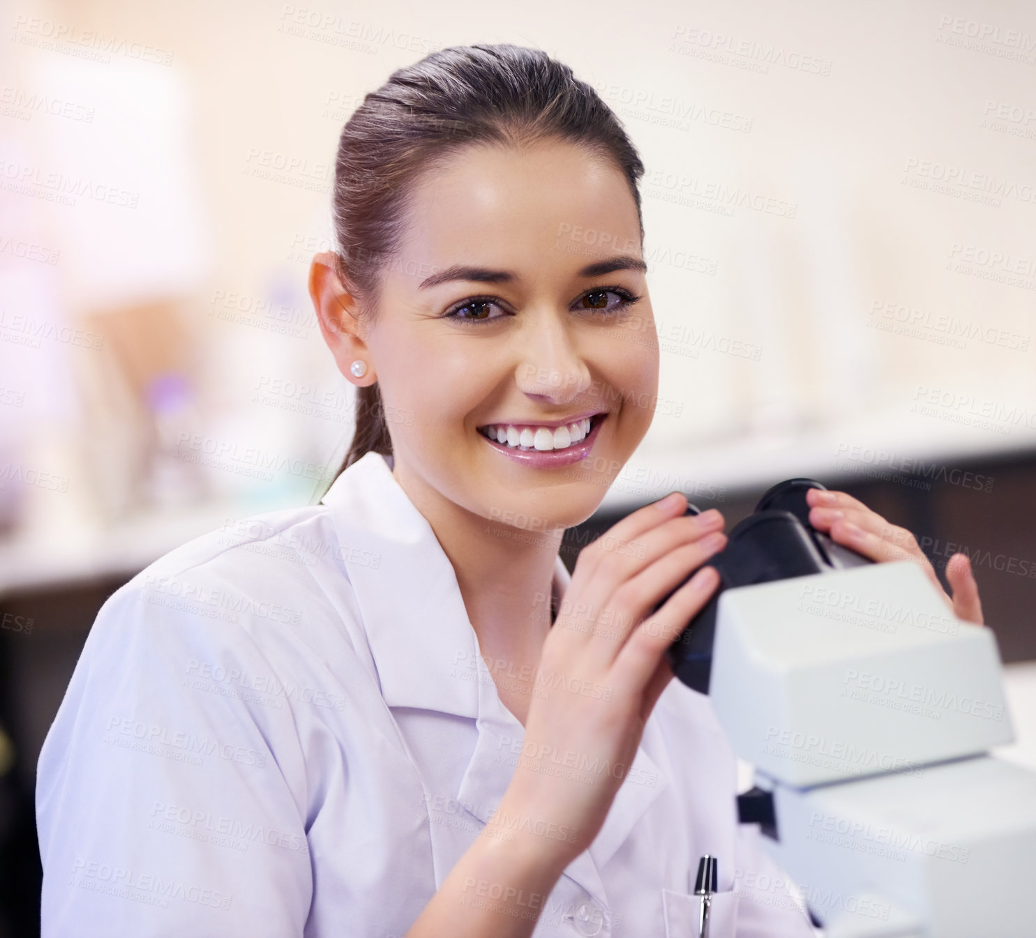
<svg viewBox="0 0 1036 938"><path fill-rule="evenodd" d="M44 938L399 938L522 736L448 557L368 453L321 504L228 522L105 603L39 756ZM671 681L597 839L529 897L537 938L692 934L704 853L712 938L811 936L735 778L708 698Z"/></svg>

